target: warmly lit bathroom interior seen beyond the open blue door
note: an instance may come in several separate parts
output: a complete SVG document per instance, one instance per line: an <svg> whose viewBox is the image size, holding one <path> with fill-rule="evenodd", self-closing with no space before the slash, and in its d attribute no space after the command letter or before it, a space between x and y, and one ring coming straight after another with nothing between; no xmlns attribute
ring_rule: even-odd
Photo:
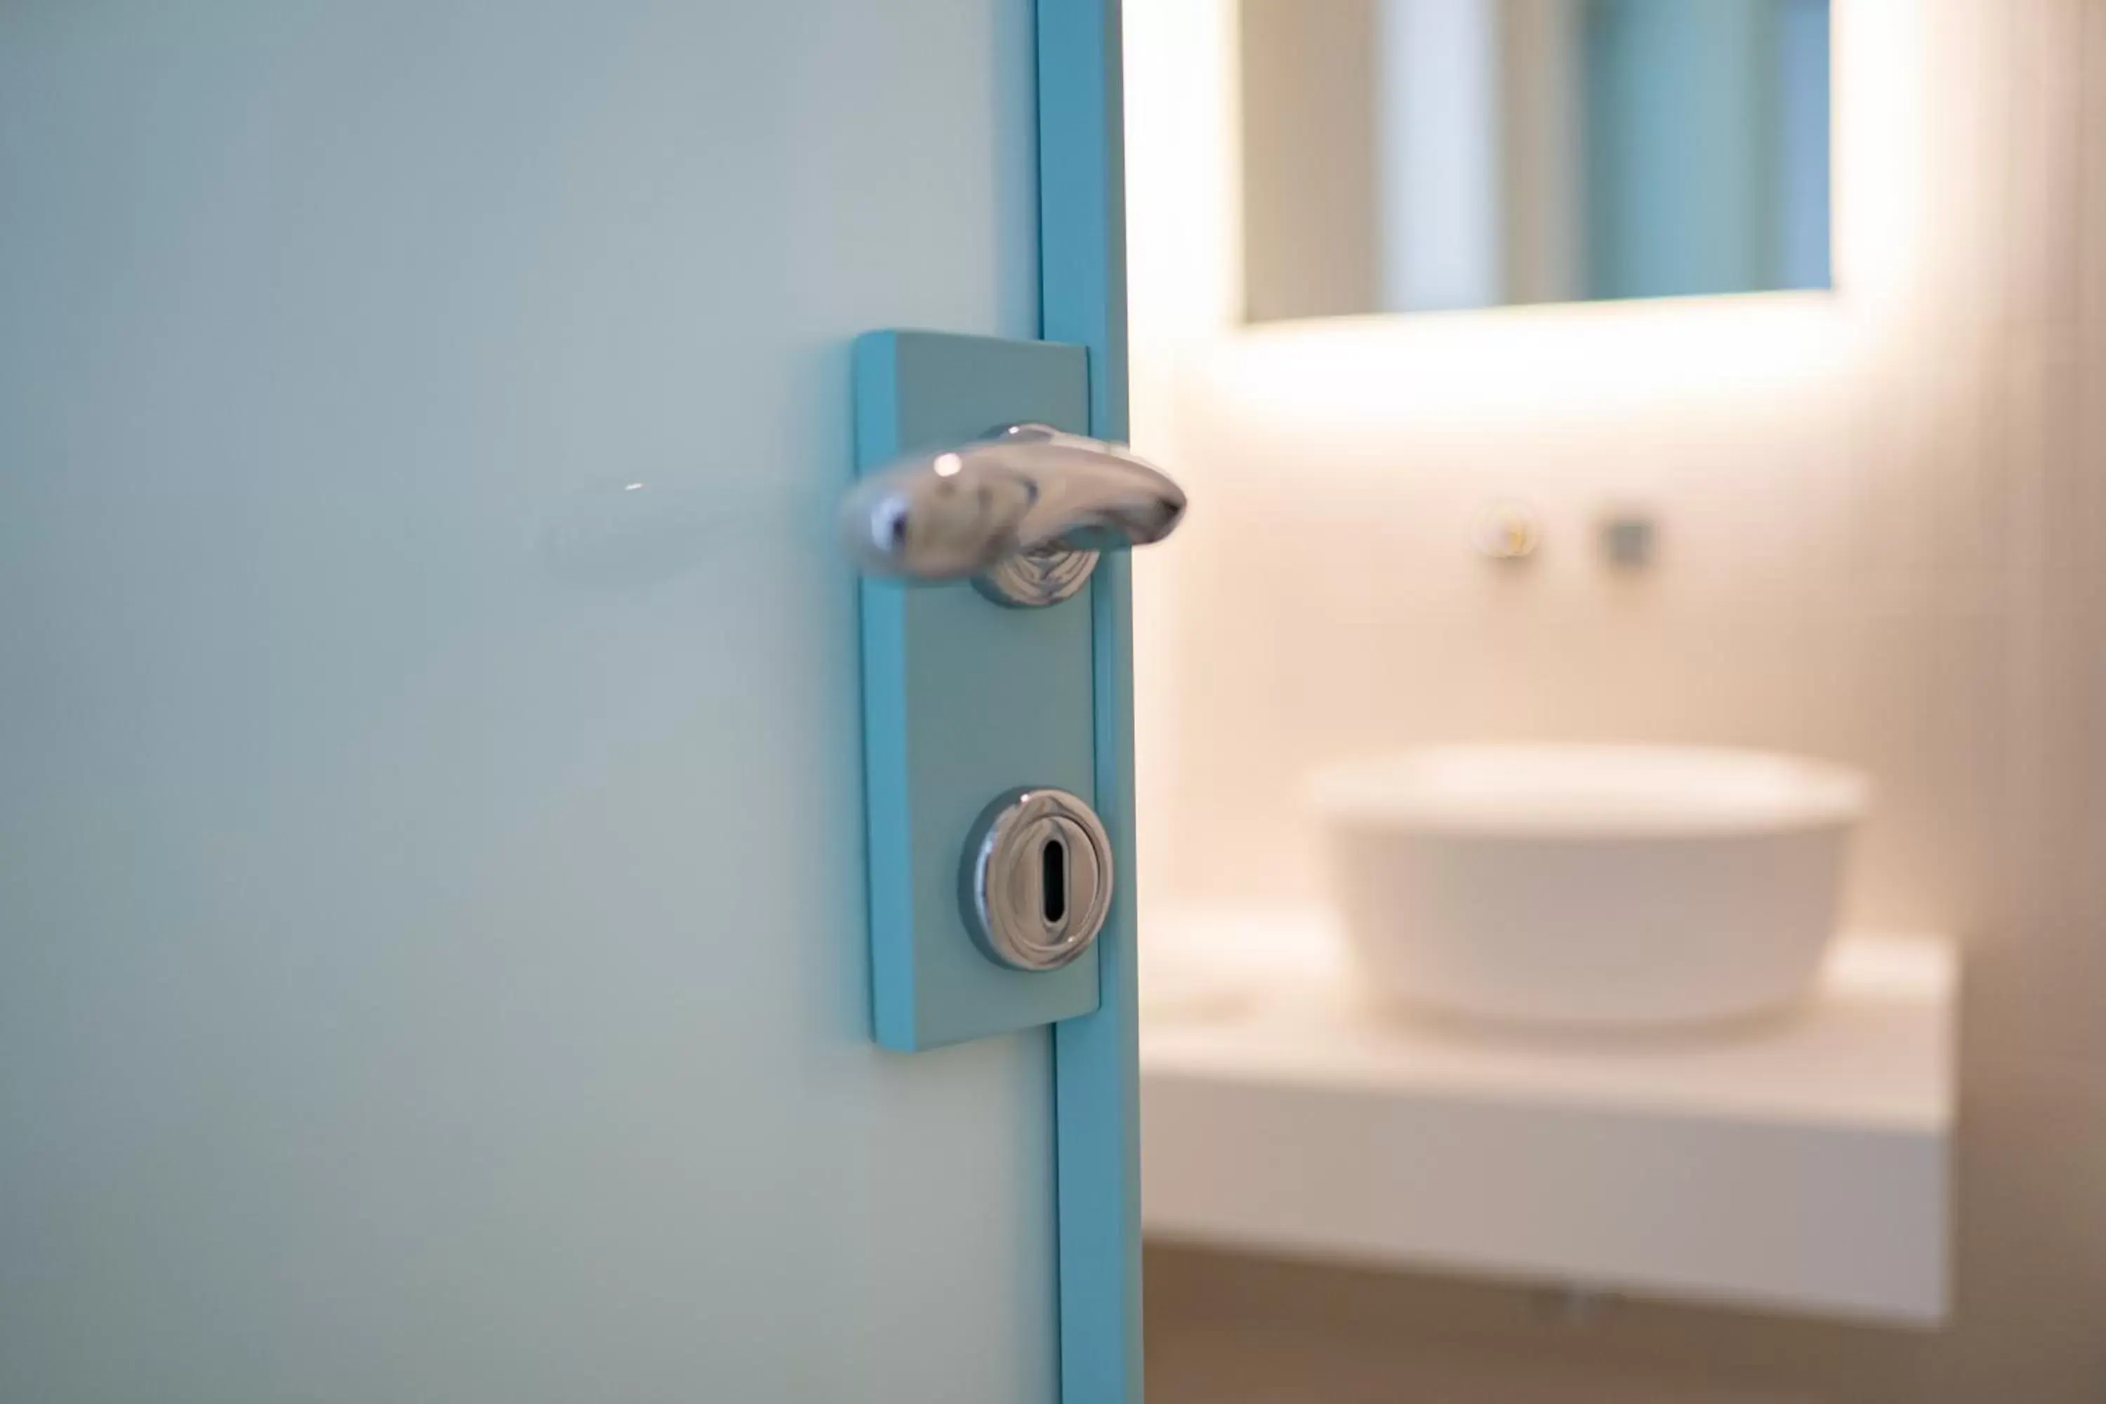
<svg viewBox="0 0 2106 1404"><path fill-rule="evenodd" d="M2106 6L1125 40L1148 1398L2106 1400Z"/></svg>

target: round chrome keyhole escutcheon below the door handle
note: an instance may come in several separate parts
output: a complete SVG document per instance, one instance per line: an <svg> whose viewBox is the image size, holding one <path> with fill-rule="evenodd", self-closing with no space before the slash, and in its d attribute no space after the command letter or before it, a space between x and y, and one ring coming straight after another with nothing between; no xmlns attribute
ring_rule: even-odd
<svg viewBox="0 0 2106 1404"><path fill-rule="evenodd" d="M1013 789L981 810L958 867L973 943L1011 970L1057 970L1112 914L1112 840L1066 789Z"/></svg>

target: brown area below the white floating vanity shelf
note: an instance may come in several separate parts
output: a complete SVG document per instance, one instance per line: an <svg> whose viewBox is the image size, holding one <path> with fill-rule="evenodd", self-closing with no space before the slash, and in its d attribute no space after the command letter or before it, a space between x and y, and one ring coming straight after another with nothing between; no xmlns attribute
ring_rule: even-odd
<svg viewBox="0 0 2106 1404"><path fill-rule="evenodd" d="M1152 1244L1148 1404L1923 1404L1902 1330Z"/></svg>

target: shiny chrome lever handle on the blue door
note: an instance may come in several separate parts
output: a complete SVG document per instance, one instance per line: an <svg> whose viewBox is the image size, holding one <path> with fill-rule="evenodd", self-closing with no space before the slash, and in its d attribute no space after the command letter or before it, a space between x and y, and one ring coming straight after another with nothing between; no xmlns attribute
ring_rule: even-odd
<svg viewBox="0 0 2106 1404"><path fill-rule="evenodd" d="M1184 507L1184 488L1127 448L1021 423L861 478L840 526L866 575L971 579L998 604L1038 606L1078 591L1099 551L1171 535Z"/></svg>

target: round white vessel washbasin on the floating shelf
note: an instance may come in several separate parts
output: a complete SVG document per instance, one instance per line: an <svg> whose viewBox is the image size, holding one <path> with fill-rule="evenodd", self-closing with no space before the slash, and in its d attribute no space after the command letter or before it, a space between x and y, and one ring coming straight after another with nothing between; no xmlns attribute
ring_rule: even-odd
<svg viewBox="0 0 2106 1404"><path fill-rule="evenodd" d="M1866 794L1809 760L1649 745L1436 747L1314 781L1379 991L1586 1027L1744 1019L1807 994Z"/></svg>

